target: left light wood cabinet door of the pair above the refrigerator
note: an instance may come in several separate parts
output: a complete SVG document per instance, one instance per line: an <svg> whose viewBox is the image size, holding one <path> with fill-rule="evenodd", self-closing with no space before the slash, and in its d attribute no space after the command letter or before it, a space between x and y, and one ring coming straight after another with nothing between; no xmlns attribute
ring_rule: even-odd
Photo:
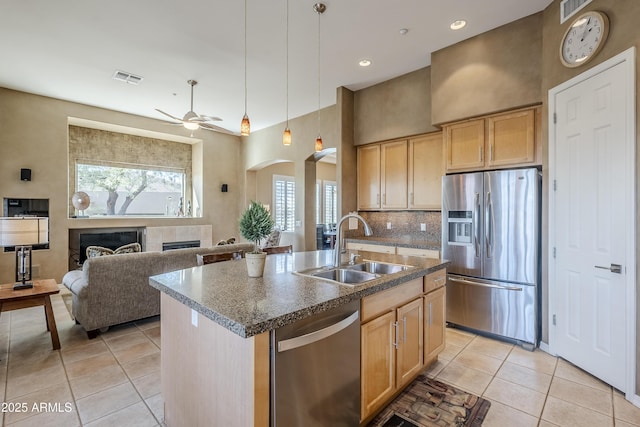
<svg viewBox="0 0 640 427"><path fill-rule="evenodd" d="M447 171L484 167L484 119L445 126Z"/></svg>

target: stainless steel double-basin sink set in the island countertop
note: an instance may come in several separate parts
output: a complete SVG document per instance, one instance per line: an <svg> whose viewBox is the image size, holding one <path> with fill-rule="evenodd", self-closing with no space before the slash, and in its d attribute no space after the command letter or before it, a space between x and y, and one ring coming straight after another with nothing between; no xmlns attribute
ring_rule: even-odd
<svg viewBox="0 0 640 427"><path fill-rule="evenodd" d="M378 261L365 261L358 264L348 264L335 268L314 268L297 271L297 274L318 279L331 280L343 285L359 285L369 280L377 279L383 275L399 273L413 268L410 265L390 264Z"/></svg>

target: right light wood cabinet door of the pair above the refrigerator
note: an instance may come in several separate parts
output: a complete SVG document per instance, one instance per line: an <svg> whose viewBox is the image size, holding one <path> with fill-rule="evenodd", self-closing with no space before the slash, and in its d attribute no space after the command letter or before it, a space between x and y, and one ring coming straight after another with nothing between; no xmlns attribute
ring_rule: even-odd
<svg viewBox="0 0 640 427"><path fill-rule="evenodd" d="M535 111L525 110L487 118L487 166L535 161Z"/></svg>

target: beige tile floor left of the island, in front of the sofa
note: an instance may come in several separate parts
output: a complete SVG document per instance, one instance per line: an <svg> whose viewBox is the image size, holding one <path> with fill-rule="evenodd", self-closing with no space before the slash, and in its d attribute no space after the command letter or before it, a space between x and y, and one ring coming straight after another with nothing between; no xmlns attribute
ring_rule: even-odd
<svg viewBox="0 0 640 427"><path fill-rule="evenodd" d="M93 340L52 297L61 350L44 309L0 315L3 426L161 426L160 320L118 326Z"/></svg>

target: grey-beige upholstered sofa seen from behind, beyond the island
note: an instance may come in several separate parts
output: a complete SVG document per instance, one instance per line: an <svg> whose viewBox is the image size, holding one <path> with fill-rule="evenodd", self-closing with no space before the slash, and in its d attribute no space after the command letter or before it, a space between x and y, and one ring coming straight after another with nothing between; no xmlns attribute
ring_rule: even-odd
<svg viewBox="0 0 640 427"><path fill-rule="evenodd" d="M160 314L160 291L149 285L150 276L195 267L197 255L252 250L251 243L235 243L88 258L62 283L72 293L76 323L94 338L109 326Z"/></svg>

